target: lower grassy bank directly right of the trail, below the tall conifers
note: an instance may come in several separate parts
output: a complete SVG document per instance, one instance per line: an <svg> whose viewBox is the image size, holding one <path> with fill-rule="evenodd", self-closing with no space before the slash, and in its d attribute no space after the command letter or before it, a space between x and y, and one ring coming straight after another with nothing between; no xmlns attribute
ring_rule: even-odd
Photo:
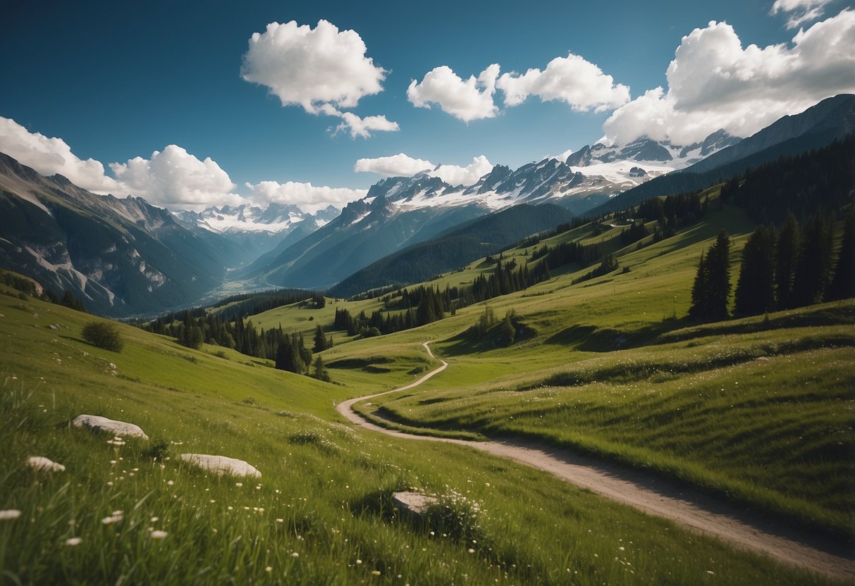
<svg viewBox="0 0 855 586"><path fill-rule="evenodd" d="M414 389L365 410L422 433L545 440L851 535L855 335L851 323L808 330L604 353L540 379Z"/></svg>

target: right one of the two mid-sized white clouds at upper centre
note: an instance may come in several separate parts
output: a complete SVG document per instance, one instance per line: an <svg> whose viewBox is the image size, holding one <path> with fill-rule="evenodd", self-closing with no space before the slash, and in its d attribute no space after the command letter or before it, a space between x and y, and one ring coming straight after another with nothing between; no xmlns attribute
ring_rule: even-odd
<svg viewBox="0 0 855 586"><path fill-rule="evenodd" d="M522 75L503 73L496 84L504 91L504 105L516 106L529 96L544 102L565 102L576 112L617 108L629 101L629 88L578 55L556 57L544 71L529 69Z"/></svg>

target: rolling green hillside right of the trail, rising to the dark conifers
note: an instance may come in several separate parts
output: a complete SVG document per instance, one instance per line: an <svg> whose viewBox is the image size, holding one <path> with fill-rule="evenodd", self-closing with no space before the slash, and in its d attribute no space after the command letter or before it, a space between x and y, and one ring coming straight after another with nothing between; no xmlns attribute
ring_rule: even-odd
<svg viewBox="0 0 855 586"><path fill-rule="evenodd" d="M544 241L603 243L620 268L573 284L587 269L571 265L487 302L499 318L513 310L526 326L509 348L465 334L485 311L479 304L415 330L340 345L325 360L339 366L333 379L346 382L367 374L368 363L341 367L351 357L394 355L398 345L432 339L450 362L442 376L373 400L363 413L410 431L522 436L600 454L851 538L852 301L689 323L701 252L725 227L735 284L753 226L742 209L717 208L675 237L646 238L640 249L619 248L619 227L595 236L583 226ZM523 261L526 253L505 256ZM476 261L439 283L465 284L485 271Z"/></svg>

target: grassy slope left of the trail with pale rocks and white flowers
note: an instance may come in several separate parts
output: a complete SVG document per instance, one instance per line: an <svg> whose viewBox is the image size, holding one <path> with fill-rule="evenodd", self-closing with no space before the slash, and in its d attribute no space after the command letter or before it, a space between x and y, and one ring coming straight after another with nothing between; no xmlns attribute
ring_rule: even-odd
<svg viewBox="0 0 855 586"><path fill-rule="evenodd" d="M333 401L376 388L357 375L322 384L126 326L125 349L107 352L80 340L91 316L3 293L0 510L21 512L0 520L10 583L823 583L504 460L353 431ZM79 413L151 440L110 444L69 427ZM216 478L183 452L263 476ZM32 455L66 470L32 472ZM407 488L465 514L401 518L390 495Z"/></svg>

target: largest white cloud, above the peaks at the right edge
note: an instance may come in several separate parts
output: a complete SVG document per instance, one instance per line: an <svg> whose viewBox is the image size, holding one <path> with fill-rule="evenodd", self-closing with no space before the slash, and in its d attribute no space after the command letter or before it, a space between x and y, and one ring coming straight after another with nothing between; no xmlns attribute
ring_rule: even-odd
<svg viewBox="0 0 855 586"><path fill-rule="evenodd" d="M746 137L823 98L855 92L855 12L799 31L792 44L764 48L743 49L732 26L713 21L683 37L667 79L667 91L646 91L611 114L604 138L690 144L719 128Z"/></svg>

